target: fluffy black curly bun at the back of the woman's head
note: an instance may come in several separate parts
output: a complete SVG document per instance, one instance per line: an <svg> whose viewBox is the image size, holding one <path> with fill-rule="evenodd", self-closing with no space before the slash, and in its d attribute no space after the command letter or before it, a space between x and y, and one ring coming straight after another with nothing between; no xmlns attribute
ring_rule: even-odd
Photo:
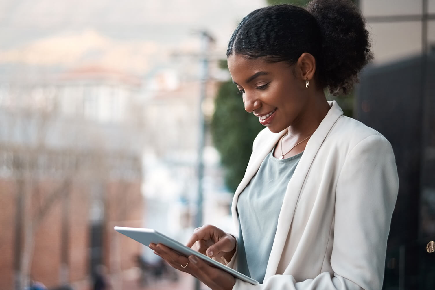
<svg viewBox="0 0 435 290"><path fill-rule="evenodd" d="M321 82L334 95L346 94L373 58L365 19L349 0L312 0L307 10L321 31Z"/></svg>

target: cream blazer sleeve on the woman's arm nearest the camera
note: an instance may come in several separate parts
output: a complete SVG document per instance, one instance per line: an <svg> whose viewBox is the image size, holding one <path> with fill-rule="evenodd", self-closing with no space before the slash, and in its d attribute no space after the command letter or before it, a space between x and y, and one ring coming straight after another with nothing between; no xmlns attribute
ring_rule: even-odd
<svg viewBox="0 0 435 290"><path fill-rule="evenodd" d="M329 272L295 281L274 275L263 284L236 279L234 290L379 290L398 175L390 143L381 135L358 142L346 156L335 192L334 241Z"/></svg>

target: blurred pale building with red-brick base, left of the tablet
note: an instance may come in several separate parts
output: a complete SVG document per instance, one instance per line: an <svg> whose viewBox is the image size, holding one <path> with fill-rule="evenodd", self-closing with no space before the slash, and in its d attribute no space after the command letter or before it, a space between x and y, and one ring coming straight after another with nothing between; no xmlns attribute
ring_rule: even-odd
<svg viewBox="0 0 435 290"><path fill-rule="evenodd" d="M113 227L142 225L141 93L92 66L0 81L1 289L25 273L87 289L99 264L135 266L140 244Z"/></svg>

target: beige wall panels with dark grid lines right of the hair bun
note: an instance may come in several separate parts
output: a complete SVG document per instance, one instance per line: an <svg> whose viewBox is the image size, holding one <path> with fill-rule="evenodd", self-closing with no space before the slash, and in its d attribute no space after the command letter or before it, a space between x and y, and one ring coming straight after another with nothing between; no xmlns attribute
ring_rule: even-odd
<svg viewBox="0 0 435 290"><path fill-rule="evenodd" d="M435 0L358 0L375 63L419 55L435 43Z"/></svg>

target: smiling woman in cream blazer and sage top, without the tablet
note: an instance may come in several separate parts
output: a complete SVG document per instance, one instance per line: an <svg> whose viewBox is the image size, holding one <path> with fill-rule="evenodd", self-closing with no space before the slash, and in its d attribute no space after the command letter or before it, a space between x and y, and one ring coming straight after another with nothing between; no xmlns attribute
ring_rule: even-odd
<svg viewBox="0 0 435 290"><path fill-rule="evenodd" d="M398 192L395 157L380 133L324 94L351 89L369 48L365 22L346 0L246 16L229 42L228 67L246 111L267 128L234 194L238 236L207 225L187 245L260 284L160 244L150 245L155 253L211 289L380 290Z"/></svg>

